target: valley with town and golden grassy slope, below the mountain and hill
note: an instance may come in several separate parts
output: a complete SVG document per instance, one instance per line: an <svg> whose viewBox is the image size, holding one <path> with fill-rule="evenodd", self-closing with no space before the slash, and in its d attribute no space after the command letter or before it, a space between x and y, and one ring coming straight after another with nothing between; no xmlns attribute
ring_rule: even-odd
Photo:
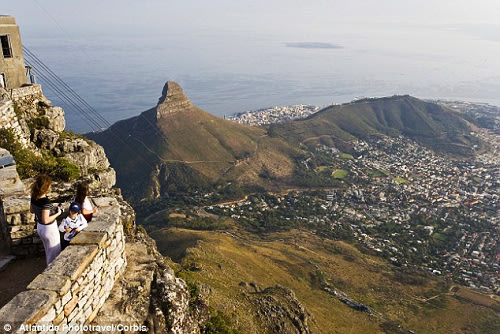
<svg viewBox="0 0 500 334"><path fill-rule="evenodd" d="M258 315L253 298L276 299L278 285L302 303L312 332L494 332L498 146L491 133L477 136L491 151L475 161L405 138L358 140L353 154L321 146L301 167L331 188L229 202L192 194L194 206L177 203L142 222L235 328L258 326L241 309Z"/></svg>

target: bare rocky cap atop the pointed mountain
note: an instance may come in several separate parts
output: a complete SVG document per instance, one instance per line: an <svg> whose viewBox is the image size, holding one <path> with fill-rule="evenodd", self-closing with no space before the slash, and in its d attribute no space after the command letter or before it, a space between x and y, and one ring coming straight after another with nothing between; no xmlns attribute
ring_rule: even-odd
<svg viewBox="0 0 500 334"><path fill-rule="evenodd" d="M184 94L181 86L173 81L167 81L162 90L162 95L156 106L156 118L160 119L169 114L192 108L193 104Z"/></svg>

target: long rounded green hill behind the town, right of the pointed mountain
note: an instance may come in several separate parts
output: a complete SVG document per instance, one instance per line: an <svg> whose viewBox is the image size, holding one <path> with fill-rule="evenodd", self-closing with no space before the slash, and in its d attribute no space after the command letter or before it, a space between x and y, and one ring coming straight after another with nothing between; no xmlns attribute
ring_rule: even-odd
<svg viewBox="0 0 500 334"><path fill-rule="evenodd" d="M441 153L467 156L480 144L456 112L411 96L364 99L330 106L308 119L275 124L273 136L314 147L326 144L348 148L355 138L405 136Z"/></svg>

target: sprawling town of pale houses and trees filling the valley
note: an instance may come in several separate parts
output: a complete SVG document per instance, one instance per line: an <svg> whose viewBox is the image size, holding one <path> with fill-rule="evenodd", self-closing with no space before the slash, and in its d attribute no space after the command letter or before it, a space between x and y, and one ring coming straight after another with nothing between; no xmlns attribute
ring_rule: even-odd
<svg viewBox="0 0 500 334"><path fill-rule="evenodd" d="M357 140L350 154L320 146L302 166L330 175L335 186L205 209L264 230L307 227L352 238L396 266L498 295L500 139L483 128L470 135L490 145L473 160L438 155L404 137Z"/></svg>

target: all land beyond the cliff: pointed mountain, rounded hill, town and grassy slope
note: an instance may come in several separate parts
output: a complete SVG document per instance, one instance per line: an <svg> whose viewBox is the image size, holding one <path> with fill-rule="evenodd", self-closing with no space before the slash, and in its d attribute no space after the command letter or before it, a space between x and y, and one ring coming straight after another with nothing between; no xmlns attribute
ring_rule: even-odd
<svg viewBox="0 0 500 334"><path fill-rule="evenodd" d="M169 82L156 109L92 138L233 333L500 330L495 129L410 96L310 110L245 126Z"/></svg>

